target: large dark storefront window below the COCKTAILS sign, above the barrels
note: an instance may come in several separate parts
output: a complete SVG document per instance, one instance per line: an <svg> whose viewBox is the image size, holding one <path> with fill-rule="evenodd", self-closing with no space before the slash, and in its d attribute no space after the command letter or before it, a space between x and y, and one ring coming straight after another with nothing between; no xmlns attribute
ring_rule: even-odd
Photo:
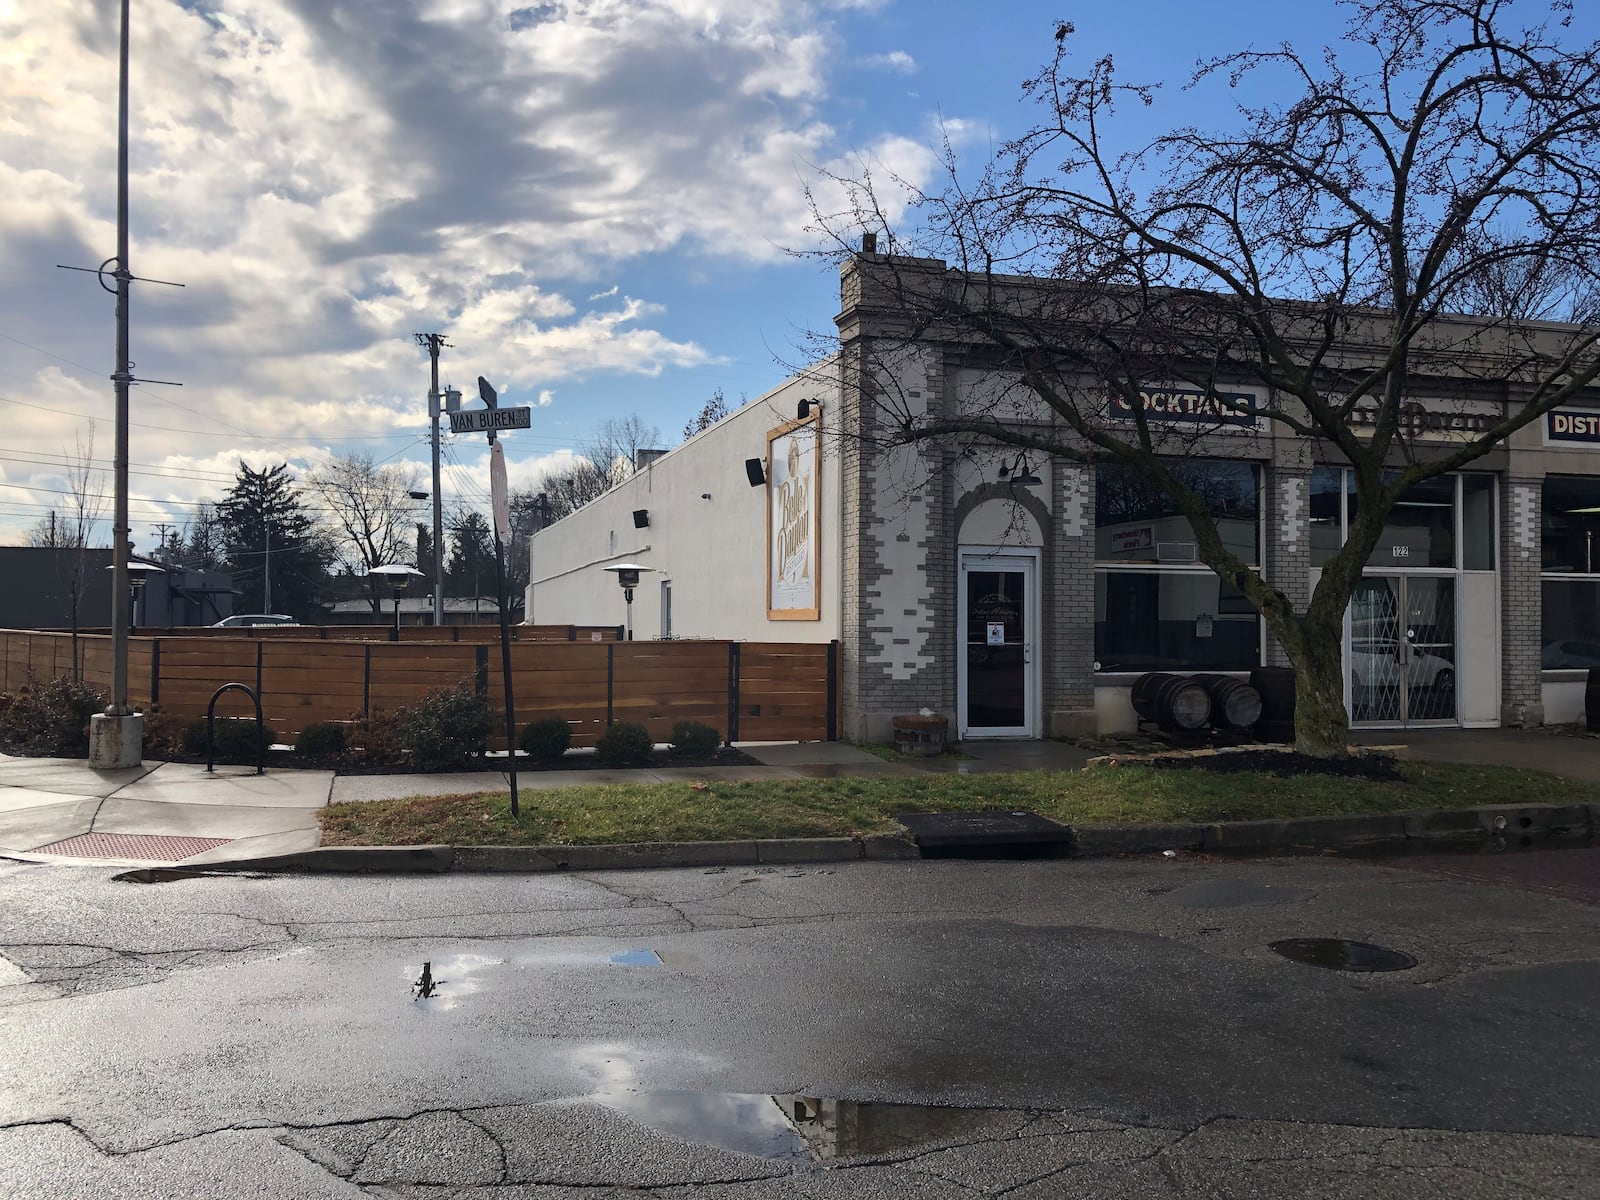
<svg viewBox="0 0 1600 1200"><path fill-rule="evenodd" d="M1222 544L1256 565L1259 467L1200 459L1171 469L1205 501ZM1096 670L1245 670L1261 661L1261 618L1200 563L1189 520L1154 480L1099 466L1094 517Z"/></svg>

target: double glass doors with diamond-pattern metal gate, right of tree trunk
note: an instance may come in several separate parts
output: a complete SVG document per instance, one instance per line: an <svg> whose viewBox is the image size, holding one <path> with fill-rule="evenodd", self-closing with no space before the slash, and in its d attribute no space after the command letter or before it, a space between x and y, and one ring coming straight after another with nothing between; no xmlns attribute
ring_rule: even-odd
<svg viewBox="0 0 1600 1200"><path fill-rule="evenodd" d="M1371 574L1350 597L1350 720L1456 723L1456 581Z"/></svg>

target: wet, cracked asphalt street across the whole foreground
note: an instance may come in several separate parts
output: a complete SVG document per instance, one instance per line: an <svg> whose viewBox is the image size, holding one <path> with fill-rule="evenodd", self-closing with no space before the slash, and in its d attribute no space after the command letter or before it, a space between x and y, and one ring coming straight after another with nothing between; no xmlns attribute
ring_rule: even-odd
<svg viewBox="0 0 1600 1200"><path fill-rule="evenodd" d="M0 864L0 1195L1594 1197L1600 851L1504 861Z"/></svg>

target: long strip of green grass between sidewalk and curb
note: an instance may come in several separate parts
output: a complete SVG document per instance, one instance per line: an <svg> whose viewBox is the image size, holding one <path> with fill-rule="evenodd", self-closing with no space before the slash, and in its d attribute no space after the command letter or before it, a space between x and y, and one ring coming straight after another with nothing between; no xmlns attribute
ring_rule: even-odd
<svg viewBox="0 0 1600 1200"><path fill-rule="evenodd" d="M1600 800L1600 787L1507 766L1403 762L1400 771L1403 778L1390 782L1099 766L925 779L594 786L522 792L522 821L512 821L507 792L330 805L322 810L322 830L331 846L597 845L850 837L898 830L894 813L973 808L1030 808L1066 824L1094 826Z"/></svg>

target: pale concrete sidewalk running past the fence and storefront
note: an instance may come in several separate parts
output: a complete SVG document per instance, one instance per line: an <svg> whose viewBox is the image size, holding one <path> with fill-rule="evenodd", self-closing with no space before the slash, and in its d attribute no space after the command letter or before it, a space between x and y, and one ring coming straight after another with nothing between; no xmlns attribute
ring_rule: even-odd
<svg viewBox="0 0 1600 1200"><path fill-rule="evenodd" d="M1363 731L1352 741L1406 746L1414 758L1528 766L1600 782L1600 739L1538 730ZM608 782L702 779L917 778L1078 770L1091 755L1061 742L963 742L968 757L885 762L845 742L741 744L755 766L518 771L522 792ZM504 760L502 760L504 762ZM0 755L0 856L67 864L208 866L315 850L330 802L453 795L509 787L504 771L352 774L146 763L96 771L82 758ZM1506 797L1514 802L1515 797Z"/></svg>

